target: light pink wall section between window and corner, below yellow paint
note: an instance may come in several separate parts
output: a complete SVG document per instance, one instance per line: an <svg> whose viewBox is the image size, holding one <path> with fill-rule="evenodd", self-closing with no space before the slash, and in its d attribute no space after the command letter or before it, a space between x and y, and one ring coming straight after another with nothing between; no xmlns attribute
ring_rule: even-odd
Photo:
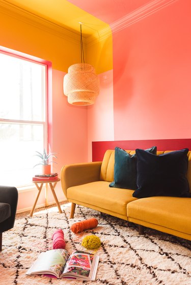
<svg viewBox="0 0 191 285"><path fill-rule="evenodd" d="M58 172L65 164L88 161L87 107L68 104L63 93L65 73L52 70L52 151L57 152L57 164L53 171ZM61 183L59 198L63 199Z"/></svg>

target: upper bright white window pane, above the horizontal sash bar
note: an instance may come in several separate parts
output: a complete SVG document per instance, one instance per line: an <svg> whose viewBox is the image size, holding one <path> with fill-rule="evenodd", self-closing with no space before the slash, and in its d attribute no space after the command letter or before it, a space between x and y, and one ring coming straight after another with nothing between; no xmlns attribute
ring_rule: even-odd
<svg viewBox="0 0 191 285"><path fill-rule="evenodd" d="M45 66L0 53L0 118L45 120Z"/></svg>

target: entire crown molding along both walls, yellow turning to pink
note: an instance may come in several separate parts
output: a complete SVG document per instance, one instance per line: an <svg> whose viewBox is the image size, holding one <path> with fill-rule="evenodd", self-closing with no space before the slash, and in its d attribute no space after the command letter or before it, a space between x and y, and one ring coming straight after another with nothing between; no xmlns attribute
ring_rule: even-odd
<svg viewBox="0 0 191 285"><path fill-rule="evenodd" d="M167 5L172 4L177 0L153 0L149 4L142 6L141 8L134 10L132 13L125 15L119 20L110 24L110 26L98 31L97 33L89 36L88 38L83 38L83 42L86 47L92 46L99 41L104 40L108 36L111 36L114 33L126 28L129 25L132 25L135 22L142 20L144 17L147 17L159 9L166 7ZM37 28L43 29L48 33L57 35L67 41L79 44L79 34L74 33L65 27L62 27L58 24L55 24L51 21L48 21L40 16L37 16L33 13L30 13L24 9L21 9L13 4L10 4L6 0L0 0L1 13L7 14L11 17L14 17L20 21L33 25Z"/></svg>

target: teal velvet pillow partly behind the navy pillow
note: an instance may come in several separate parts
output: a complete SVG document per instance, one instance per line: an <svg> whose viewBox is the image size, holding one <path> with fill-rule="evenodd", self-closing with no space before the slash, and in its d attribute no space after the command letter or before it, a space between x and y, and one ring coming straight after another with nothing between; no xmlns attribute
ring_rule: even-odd
<svg viewBox="0 0 191 285"><path fill-rule="evenodd" d="M156 154L156 146L146 149ZM137 188L137 155L130 155L120 147L115 148L114 182L110 187L135 190Z"/></svg>

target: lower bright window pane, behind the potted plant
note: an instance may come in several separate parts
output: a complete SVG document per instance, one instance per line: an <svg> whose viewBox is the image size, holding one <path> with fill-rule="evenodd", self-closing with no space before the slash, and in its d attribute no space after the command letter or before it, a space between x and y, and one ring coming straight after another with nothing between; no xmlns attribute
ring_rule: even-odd
<svg viewBox="0 0 191 285"><path fill-rule="evenodd" d="M0 123L1 185L27 185L40 173L36 150L43 150L43 124Z"/></svg>

